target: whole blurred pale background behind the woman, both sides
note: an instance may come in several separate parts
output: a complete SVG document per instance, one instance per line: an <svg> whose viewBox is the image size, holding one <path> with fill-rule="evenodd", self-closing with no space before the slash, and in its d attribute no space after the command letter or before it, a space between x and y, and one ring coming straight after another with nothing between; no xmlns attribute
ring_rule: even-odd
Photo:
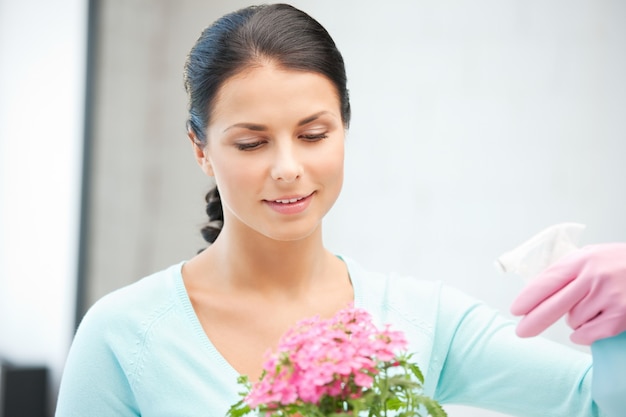
<svg viewBox="0 0 626 417"><path fill-rule="evenodd" d="M502 252L565 221L583 244L626 240L626 3L291 3L348 71L331 250L508 315L523 283ZM50 409L85 310L204 246L183 64L249 4L0 0L0 359L49 369ZM563 323L546 337L571 345Z"/></svg>

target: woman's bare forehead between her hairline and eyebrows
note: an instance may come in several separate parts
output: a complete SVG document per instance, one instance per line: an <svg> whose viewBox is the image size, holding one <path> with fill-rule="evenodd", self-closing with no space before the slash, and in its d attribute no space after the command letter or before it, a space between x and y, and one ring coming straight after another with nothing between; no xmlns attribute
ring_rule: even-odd
<svg viewBox="0 0 626 417"><path fill-rule="evenodd" d="M264 64L226 80L218 90L210 119L211 124L266 122L301 119L319 111L340 118L339 95L328 78L315 72Z"/></svg>

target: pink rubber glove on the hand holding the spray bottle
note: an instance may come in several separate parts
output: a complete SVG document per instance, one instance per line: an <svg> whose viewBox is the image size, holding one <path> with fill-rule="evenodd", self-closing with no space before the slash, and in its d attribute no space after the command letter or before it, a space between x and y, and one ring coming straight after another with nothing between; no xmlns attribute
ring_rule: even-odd
<svg viewBox="0 0 626 417"><path fill-rule="evenodd" d="M574 343L626 331L626 243L587 246L559 259L522 290L511 313L525 316L520 337L538 335L565 314Z"/></svg>

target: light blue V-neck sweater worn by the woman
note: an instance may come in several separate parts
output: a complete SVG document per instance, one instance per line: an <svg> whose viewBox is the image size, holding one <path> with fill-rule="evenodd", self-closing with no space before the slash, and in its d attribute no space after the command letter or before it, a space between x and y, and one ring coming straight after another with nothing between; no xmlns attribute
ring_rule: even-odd
<svg viewBox="0 0 626 417"><path fill-rule="evenodd" d="M591 358L540 338L520 339L496 311L440 282L387 276L343 258L355 306L405 333L426 394L520 417L590 417ZM83 319L57 417L221 417L237 372L204 333L182 263L117 290Z"/></svg>

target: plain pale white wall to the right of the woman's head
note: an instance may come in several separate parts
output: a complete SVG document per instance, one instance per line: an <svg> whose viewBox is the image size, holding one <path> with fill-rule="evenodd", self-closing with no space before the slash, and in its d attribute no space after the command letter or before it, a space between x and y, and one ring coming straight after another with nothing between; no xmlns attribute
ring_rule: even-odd
<svg viewBox="0 0 626 417"><path fill-rule="evenodd" d="M508 309L493 260L542 228L626 239L626 3L298 1L353 104L328 243Z"/></svg>

